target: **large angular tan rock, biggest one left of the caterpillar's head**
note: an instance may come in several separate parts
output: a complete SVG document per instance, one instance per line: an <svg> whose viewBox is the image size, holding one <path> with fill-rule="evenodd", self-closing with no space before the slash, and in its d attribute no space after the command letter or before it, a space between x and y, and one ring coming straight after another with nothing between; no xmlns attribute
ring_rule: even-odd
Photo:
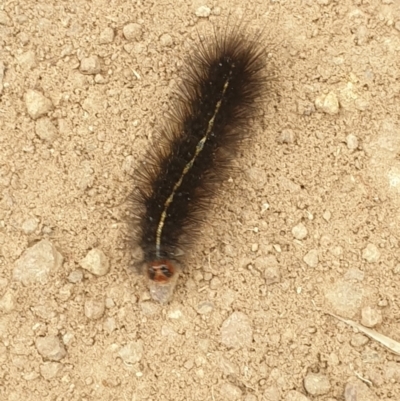
<svg viewBox="0 0 400 401"><path fill-rule="evenodd" d="M50 273L61 268L63 259L53 244L44 239L28 248L15 262L13 278L24 285L45 284Z"/></svg>

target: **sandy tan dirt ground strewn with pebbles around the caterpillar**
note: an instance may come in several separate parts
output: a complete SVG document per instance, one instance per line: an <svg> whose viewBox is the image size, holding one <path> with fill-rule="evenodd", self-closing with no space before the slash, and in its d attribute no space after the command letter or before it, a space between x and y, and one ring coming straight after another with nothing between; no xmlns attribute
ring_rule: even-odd
<svg viewBox="0 0 400 401"><path fill-rule="evenodd" d="M162 306L126 198L229 13L276 81ZM400 341L399 66L397 0L3 0L0 399L400 400L399 354L326 314Z"/></svg>

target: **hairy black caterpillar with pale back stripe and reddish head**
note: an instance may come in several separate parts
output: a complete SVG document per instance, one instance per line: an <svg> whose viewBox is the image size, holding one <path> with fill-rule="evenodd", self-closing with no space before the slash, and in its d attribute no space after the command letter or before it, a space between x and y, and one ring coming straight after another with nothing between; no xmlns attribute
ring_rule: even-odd
<svg viewBox="0 0 400 401"><path fill-rule="evenodd" d="M214 31L187 59L170 117L137 173L132 194L141 270L165 303L175 287L178 250L196 237L209 201L230 171L265 94L265 48L243 27Z"/></svg>

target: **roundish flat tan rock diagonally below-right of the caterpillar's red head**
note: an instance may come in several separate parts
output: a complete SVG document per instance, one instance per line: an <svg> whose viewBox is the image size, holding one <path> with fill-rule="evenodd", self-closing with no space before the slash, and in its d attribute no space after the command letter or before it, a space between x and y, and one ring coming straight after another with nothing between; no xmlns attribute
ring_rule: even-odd
<svg viewBox="0 0 400 401"><path fill-rule="evenodd" d="M221 342L227 347L248 347L253 340L250 319L243 312L233 312L221 326Z"/></svg>

